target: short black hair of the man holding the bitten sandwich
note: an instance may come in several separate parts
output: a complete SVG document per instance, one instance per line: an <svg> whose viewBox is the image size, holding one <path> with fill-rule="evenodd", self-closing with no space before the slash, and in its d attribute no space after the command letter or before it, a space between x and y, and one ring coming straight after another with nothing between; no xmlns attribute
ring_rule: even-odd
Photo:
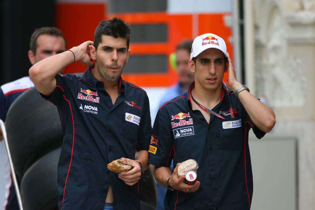
<svg viewBox="0 0 315 210"><path fill-rule="evenodd" d="M120 18L114 17L111 20L102 20L96 27L94 33L94 47L97 50L98 45L102 42L102 35L108 35L115 38L121 37L127 39L127 49L129 49L130 26Z"/></svg>

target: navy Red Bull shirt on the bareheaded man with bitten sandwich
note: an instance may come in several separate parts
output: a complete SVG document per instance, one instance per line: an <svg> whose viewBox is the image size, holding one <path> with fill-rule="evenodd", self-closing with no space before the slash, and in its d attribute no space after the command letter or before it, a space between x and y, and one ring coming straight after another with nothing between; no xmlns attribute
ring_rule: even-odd
<svg viewBox="0 0 315 210"><path fill-rule="evenodd" d="M125 184L107 164L148 150L152 128L146 92L120 78L121 94L113 105L90 68L83 77L55 78L52 95L42 97L57 106L64 134L58 163L60 210L103 209L110 185L114 209L140 209L139 183Z"/></svg>

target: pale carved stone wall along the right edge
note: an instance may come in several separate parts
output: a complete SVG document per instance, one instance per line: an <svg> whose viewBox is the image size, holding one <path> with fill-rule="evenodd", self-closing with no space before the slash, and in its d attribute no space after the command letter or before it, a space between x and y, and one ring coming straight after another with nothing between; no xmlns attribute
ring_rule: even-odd
<svg viewBox="0 0 315 210"><path fill-rule="evenodd" d="M270 135L296 136L298 209L315 209L315 0L255 0L254 7L255 95L275 111Z"/></svg>

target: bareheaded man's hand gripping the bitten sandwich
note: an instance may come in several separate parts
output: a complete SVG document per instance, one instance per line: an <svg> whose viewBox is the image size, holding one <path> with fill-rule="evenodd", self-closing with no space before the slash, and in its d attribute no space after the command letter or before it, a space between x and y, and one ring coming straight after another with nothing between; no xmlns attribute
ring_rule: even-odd
<svg viewBox="0 0 315 210"><path fill-rule="evenodd" d="M141 176L141 167L139 163L135 160L131 160L128 158L121 158L123 161L130 161L132 162L133 168L130 171L122 172L118 174L118 178L123 180L126 184L132 186L136 184Z"/></svg>

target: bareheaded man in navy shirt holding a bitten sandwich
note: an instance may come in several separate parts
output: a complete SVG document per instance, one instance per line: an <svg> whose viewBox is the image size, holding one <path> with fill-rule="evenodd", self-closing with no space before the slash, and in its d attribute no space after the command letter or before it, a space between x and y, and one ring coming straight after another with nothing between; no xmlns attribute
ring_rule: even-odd
<svg viewBox="0 0 315 210"><path fill-rule="evenodd" d="M60 210L140 209L137 183L147 167L152 128L146 92L121 78L129 33L123 20L104 20L95 30L95 43L84 42L29 71L37 90L60 113ZM57 74L74 61L89 66L83 77ZM109 171L106 165L119 158L133 168Z"/></svg>

